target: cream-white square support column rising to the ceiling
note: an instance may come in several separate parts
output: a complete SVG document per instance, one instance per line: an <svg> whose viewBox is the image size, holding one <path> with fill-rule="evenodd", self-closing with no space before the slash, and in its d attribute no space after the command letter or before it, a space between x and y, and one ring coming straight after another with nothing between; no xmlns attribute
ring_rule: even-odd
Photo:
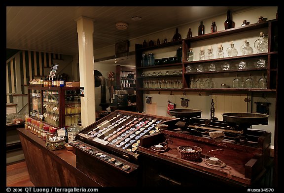
<svg viewBox="0 0 284 193"><path fill-rule="evenodd" d="M77 20L79 45L80 86L84 87L84 97L81 97L81 121L86 127L96 121L95 108L95 77L93 32L94 20L79 17Z"/></svg>

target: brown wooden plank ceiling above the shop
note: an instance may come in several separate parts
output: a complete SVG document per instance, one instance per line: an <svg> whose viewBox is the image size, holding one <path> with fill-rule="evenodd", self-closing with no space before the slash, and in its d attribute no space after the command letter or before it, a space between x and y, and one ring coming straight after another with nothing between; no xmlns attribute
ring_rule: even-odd
<svg viewBox="0 0 284 193"><path fill-rule="evenodd" d="M227 10L248 7L191 6L7 6L6 48L77 55L78 36L75 20L94 19L94 49L114 45L165 28L200 21ZM133 16L142 17L133 21ZM127 30L115 28L125 22Z"/></svg>

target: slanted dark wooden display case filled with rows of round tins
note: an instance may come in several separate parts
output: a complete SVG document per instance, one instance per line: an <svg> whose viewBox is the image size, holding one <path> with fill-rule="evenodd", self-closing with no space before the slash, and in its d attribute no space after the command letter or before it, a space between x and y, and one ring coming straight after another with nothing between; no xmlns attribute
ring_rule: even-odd
<svg viewBox="0 0 284 193"><path fill-rule="evenodd" d="M115 110L85 127L70 143L76 154L76 168L102 186L142 186L137 153L140 138L159 132L157 123L169 119Z"/></svg>

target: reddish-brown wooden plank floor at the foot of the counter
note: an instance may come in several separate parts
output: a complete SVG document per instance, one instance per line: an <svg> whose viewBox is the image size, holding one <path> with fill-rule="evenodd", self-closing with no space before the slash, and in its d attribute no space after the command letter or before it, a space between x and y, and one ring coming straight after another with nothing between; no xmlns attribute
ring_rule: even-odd
<svg viewBox="0 0 284 193"><path fill-rule="evenodd" d="M6 166L7 187L34 187L25 161Z"/></svg>

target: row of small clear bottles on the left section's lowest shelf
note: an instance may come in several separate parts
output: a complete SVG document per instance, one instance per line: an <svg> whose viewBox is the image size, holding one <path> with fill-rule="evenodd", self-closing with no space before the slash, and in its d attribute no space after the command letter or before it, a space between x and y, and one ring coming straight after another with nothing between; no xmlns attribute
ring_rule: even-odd
<svg viewBox="0 0 284 193"><path fill-rule="evenodd" d="M182 80L145 80L143 88L182 88Z"/></svg>

